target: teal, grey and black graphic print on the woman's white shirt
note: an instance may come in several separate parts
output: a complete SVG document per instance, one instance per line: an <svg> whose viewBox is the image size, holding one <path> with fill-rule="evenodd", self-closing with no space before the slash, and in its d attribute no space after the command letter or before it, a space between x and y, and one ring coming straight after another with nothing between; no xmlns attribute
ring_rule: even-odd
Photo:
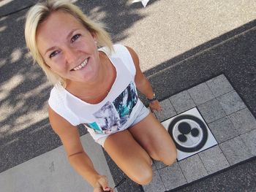
<svg viewBox="0 0 256 192"><path fill-rule="evenodd" d="M118 131L124 123L127 123L132 108L138 101L135 85L131 82L127 88L113 101L108 101L97 112L94 118L97 123L86 123L86 126L93 128L96 133L110 134Z"/></svg>

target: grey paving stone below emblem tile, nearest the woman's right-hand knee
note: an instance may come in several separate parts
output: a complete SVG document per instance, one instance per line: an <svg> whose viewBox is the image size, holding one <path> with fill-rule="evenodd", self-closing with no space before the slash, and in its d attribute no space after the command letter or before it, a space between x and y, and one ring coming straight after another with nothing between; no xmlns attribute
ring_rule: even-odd
<svg viewBox="0 0 256 192"><path fill-rule="evenodd" d="M181 166L181 170L184 173L188 183L208 175L206 168L203 166L203 163L198 155L193 155L179 161L178 164Z"/></svg>

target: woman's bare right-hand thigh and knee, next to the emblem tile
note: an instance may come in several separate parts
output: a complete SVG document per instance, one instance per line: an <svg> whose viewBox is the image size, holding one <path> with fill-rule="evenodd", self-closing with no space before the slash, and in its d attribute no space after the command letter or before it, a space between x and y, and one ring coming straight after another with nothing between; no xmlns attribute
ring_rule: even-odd
<svg viewBox="0 0 256 192"><path fill-rule="evenodd" d="M165 164L173 164L176 160L173 139L152 113L128 130L151 158Z"/></svg>

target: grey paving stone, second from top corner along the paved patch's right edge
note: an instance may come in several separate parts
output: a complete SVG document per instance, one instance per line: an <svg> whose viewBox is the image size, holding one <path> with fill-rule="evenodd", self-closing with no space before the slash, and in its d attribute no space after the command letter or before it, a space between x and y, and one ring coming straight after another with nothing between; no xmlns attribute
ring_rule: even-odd
<svg viewBox="0 0 256 192"><path fill-rule="evenodd" d="M217 97L217 100L227 115L230 115L231 113L237 112L238 110L244 109L246 107L236 91L231 91L230 93L219 96Z"/></svg>

